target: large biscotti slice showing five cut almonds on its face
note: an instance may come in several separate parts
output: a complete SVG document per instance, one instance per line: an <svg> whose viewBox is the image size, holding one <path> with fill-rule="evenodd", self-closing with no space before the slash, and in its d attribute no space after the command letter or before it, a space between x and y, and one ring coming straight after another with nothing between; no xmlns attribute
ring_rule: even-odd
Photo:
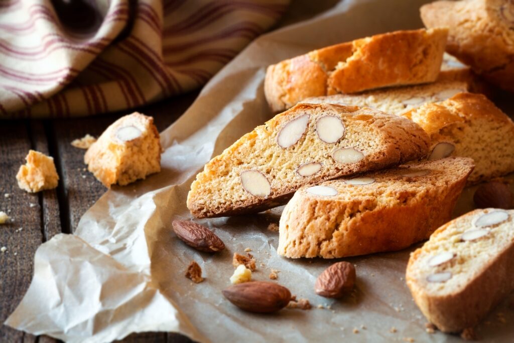
<svg viewBox="0 0 514 343"><path fill-rule="evenodd" d="M196 176L197 218L259 212L298 188L425 156L428 136L408 119L356 106L298 104L238 139Z"/></svg>

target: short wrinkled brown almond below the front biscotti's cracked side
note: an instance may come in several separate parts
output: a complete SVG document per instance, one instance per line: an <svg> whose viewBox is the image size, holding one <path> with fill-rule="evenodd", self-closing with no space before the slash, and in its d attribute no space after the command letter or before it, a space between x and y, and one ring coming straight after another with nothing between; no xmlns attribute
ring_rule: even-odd
<svg viewBox="0 0 514 343"><path fill-rule="evenodd" d="M355 285L355 267L348 262L337 262L318 276L314 291L325 298L340 298L350 293Z"/></svg>

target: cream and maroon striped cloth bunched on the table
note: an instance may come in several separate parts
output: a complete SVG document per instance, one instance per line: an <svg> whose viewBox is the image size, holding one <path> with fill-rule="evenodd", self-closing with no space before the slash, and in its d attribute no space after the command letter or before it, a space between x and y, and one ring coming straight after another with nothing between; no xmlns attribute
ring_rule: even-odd
<svg viewBox="0 0 514 343"><path fill-rule="evenodd" d="M289 0L0 0L0 118L87 116L197 88Z"/></svg>

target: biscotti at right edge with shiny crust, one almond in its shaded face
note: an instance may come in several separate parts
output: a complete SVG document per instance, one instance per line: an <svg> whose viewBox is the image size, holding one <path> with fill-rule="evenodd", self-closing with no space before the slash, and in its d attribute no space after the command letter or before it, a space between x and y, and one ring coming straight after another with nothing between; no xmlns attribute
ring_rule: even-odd
<svg viewBox="0 0 514 343"><path fill-rule="evenodd" d="M424 104L404 116L429 134L429 159L474 159L468 184L514 171L514 123L485 96L460 93L443 102Z"/></svg>

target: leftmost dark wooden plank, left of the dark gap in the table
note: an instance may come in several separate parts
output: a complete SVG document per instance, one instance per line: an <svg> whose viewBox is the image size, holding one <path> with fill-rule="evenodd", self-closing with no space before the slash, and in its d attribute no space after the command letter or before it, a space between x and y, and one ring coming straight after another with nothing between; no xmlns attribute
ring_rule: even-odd
<svg viewBox="0 0 514 343"><path fill-rule="evenodd" d="M0 210L11 216L11 222L0 226L0 323L14 311L27 291L33 272L36 248L43 242L39 194L29 194L17 186L16 173L25 163L31 148L28 123L2 121L0 123ZM5 194L9 194L8 197ZM0 341L30 341L24 335L4 325L0 327Z"/></svg>

